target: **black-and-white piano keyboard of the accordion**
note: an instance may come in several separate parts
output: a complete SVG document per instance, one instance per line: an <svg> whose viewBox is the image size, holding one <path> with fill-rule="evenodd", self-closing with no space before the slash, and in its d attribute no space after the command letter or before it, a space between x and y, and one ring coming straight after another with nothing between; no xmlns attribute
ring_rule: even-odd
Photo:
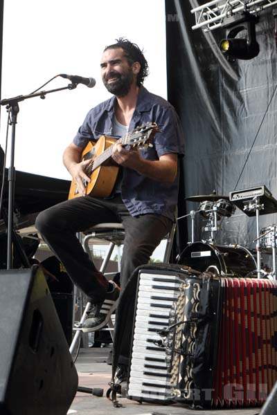
<svg viewBox="0 0 277 415"><path fill-rule="evenodd" d="M141 273L129 374L128 395L133 399L170 400L172 379L161 335L170 320L170 310L181 286L175 275Z"/></svg>

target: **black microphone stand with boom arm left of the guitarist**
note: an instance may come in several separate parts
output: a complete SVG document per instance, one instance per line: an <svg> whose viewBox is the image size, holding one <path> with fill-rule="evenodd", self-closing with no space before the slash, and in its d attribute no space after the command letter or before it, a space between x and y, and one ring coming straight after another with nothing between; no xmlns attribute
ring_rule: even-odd
<svg viewBox="0 0 277 415"><path fill-rule="evenodd" d="M19 102L28 100L29 98L42 98L44 100L46 94L64 89L75 89L77 83L72 83L62 88L51 89L48 91L40 91L29 95L18 95L14 98L8 98L0 101L0 105L6 105L6 109L10 110L12 126L12 139L10 147L10 167L8 168L8 245L7 245L7 270L12 268L12 230L13 230L13 212L15 207L15 125L17 124L17 114L19 113Z"/></svg>

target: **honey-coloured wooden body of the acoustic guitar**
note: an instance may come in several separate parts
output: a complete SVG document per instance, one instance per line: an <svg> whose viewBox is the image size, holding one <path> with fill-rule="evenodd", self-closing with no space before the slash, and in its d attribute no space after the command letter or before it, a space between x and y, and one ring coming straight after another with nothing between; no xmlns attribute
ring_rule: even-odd
<svg viewBox="0 0 277 415"><path fill-rule="evenodd" d="M82 160L88 158L95 159L99 157L103 151L116 142L115 138L101 136L95 145L91 142L82 151ZM113 165L100 165L89 175L91 182L86 184L87 195L94 197L107 197L111 194L116 183L116 177L119 167ZM71 182L69 190L69 199L82 196L77 190L75 181Z"/></svg>

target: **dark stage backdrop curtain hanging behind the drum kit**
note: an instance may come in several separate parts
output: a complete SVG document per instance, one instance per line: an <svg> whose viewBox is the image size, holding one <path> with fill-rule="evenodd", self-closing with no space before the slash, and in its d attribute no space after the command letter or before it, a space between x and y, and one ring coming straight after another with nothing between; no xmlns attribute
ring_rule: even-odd
<svg viewBox="0 0 277 415"><path fill-rule="evenodd" d="M226 29L192 30L195 15L190 10L206 3L166 0L168 100L179 113L186 143L186 156L181 160L179 216L199 208L199 203L185 201L185 197L214 190L229 196L234 190L265 185L277 196L272 9L260 12L256 25L259 55L231 63L219 48ZM244 37L244 33L237 37ZM276 213L260 216L260 229L273 223L277 223ZM208 239L205 225L201 214L196 214L195 241ZM256 228L256 217L237 208L235 214L223 219L216 243L238 243L253 249ZM178 229L177 250L181 251L191 240L190 220L178 221Z"/></svg>

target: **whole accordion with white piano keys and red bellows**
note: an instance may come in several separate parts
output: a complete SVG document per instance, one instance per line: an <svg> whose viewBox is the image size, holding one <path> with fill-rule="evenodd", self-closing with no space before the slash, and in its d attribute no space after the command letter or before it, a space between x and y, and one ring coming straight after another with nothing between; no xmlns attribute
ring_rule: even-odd
<svg viewBox="0 0 277 415"><path fill-rule="evenodd" d="M277 377L276 313L273 280L141 270L129 398L262 405Z"/></svg>

